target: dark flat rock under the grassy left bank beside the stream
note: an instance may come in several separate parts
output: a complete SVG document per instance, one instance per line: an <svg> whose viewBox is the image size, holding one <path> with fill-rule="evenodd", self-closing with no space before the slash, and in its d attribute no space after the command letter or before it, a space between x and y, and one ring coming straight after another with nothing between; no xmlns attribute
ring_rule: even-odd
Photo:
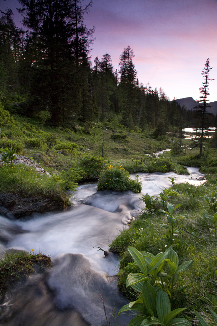
<svg viewBox="0 0 217 326"><path fill-rule="evenodd" d="M15 215L16 218L31 215L32 213L44 213L48 211L59 211L65 209L64 203L61 201L41 197L23 198L10 193L0 194L0 206L3 206L1 208L3 210L4 207L6 207L7 210Z"/></svg>

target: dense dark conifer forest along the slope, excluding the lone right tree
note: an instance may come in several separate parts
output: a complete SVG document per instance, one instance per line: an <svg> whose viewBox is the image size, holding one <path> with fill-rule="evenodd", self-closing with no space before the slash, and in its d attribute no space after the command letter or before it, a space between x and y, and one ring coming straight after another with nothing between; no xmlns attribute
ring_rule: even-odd
<svg viewBox="0 0 217 326"><path fill-rule="evenodd" d="M163 136L192 125L193 113L170 101L160 88L139 83L130 46L119 69L105 53L90 61L95 28L88 29L81 0L20 0L23 28L10 9L0 18L0 91L8 110L34 116L49 113L49 124L75 126L118 117L125 127ZM9 102L25 95L24 104ZM21 96L21 97L19 97Z"/></svg>

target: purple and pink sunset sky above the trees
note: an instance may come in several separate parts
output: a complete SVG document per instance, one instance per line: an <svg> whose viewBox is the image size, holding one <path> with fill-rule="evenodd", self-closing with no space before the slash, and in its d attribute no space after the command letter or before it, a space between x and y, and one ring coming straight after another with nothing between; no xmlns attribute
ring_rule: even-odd
<svg viewBox="0 0 217 326"><path fill-rule="evenodd" d="M18 1L0 0L0 9L7 7L19 25ZM84 19L89 29L96 29L92 62L109 53L118 69L129 45L139 82L162 87L170 99L199 99L201 71L210 58L210 78L215 80L208 99L217 100L217 0L93 0Z"/></svg>

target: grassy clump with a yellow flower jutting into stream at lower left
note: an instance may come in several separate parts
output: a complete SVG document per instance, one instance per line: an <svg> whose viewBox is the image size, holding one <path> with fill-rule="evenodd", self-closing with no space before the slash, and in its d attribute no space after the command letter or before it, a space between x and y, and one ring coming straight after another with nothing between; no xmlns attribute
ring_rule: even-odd
<svg viewBox="0 0 217 326"><path fill-rule="evenodd" d="M6 253L0 260L0 293L12 282L33 273L35 266L42 270L50 265L50 256L41 253L26 251Z"/></svg>

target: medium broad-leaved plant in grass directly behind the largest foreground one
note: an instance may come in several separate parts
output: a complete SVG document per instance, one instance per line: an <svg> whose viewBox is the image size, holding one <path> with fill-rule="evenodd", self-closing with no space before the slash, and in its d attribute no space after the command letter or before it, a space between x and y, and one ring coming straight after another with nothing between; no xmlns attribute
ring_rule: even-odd
<svg viewBox="0 0 217 326"><path fill-rule="evenodd" d="M161 224L160 227L164 227L164 228L168 229L168 238L170 240L172 240L175 232L181 232L179 227L176 227L177 218L187 217L187 215L177 215L177 216L174 217L175 210L177 208L181 207L181 206L182 206L182 204L177 204L175 207L173 207L173 205L168 203L167 204L168 212L166 212L166 211L164 211L162 209L158 210L159 212L163 212L163 213L167 214L167 220L168 220L169 224Z"/></svg>

